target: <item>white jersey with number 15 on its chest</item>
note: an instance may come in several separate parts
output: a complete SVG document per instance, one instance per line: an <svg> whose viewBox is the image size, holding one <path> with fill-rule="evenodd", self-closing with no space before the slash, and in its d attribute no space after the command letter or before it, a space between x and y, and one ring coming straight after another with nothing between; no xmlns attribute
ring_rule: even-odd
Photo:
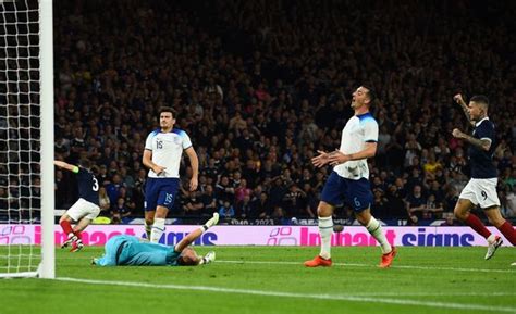
<svg viewBox="0 0 516 314"><path fill-rule="evenodd" d="M152 152L152 162L165 169L159 176L150 169L149 178L179 178L183 150L191 146L188 135L182 129L174 128L170 133L156 129L150 133L145 149Z"/></svg>

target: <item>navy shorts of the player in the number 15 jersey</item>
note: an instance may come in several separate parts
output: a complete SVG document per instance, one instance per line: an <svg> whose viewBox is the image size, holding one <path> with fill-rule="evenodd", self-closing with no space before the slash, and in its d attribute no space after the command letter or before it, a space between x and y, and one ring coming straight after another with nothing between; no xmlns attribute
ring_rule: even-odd
<svg viewBox="0 0 516 314"><path fill-rule="evenodd" d="M179 178L147 178L145 184L145 210L156 211L158 205L172 210L179 189Z"/></svg>

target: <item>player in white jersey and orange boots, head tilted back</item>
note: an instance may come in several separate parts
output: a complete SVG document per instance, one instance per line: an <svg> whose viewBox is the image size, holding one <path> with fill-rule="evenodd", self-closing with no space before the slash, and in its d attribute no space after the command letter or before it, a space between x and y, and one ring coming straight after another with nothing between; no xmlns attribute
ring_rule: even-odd
<svg viewBox="0 0 516 314"><path fill-rule="evenodd" d="M334 166L321 193L317 208L319 216L319 234L321 251L314 260L306 261L305 266L331 266L331 236L333 233L332 214L336 205L344 202L351 205L356 219L367 228L380 243L382 259L380 267L391 266L396 249L391 247L380 226L371 215L373 196L369 184L367 159L374 156L378 142L378 123L369 112L374 101L374 92L370 87L360 86L353 93L352 108L355 115L351 117L342 131L341 147L334 152L318 151L312 159L317 167L327 164Z"/></svg>

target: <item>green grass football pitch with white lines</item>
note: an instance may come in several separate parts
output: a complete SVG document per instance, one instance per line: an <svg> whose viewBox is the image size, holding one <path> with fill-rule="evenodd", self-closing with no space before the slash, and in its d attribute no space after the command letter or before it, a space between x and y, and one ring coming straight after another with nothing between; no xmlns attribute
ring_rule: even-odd
<svg viewBox="0 0 516 314"><path fill-rule="evenodd" d="M318 248L197 247L199 267L98 267L103 248L58 249L57 279L0 279L0 313L516 313L516 250L333 248L334 265L306 268ZM0 248L4 253L4 248Z"/></svg>

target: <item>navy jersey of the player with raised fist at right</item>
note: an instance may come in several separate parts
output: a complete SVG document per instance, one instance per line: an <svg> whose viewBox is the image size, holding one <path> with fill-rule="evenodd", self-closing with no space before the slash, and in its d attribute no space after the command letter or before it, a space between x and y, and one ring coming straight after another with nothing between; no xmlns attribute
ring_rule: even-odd
<svg viewBox="0 0 516 314"><path fill-rule="evenodd" d="M495 178L496 167L493 164L494 154L494 124L488 117L482 118L475 125L472 136L477 139L491 141L489 151L484 151L470 145L468 149L469 163L471 166L471 178L490 179Z"/></svg>

